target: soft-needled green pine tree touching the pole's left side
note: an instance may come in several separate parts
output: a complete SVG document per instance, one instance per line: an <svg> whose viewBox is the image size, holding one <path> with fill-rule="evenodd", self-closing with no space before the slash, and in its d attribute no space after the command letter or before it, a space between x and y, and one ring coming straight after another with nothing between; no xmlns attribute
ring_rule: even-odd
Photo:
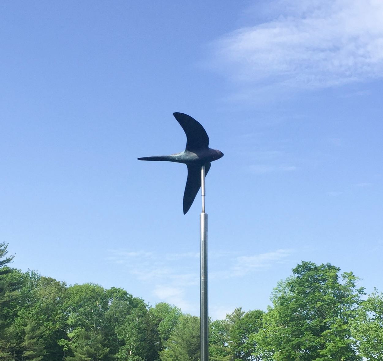
<svg viewBox="0 0 383 361"><path fill-rule="evenodd" d="M198 361L200 359L200 319L182 315L160 352L162 361Z"/></svg>

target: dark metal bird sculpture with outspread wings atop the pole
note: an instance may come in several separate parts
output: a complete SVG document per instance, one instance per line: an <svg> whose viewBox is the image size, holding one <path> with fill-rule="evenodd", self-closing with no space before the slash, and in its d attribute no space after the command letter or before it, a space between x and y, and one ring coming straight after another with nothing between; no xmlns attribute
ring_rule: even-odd
<svg viewBox="0 0 383 361"><path fill-rule="evenodd" d="M186 148L183 152L154 157L137 158L140 161L168 161L186 164L188 178L183 193L183 214L186 214L193 204L194 198L201 187L201 167L205 165L205 174L211 162L223 157L223 153L209 148L209 137L203 126L190 115L173 113L177 122L186 134Z"/></svg>

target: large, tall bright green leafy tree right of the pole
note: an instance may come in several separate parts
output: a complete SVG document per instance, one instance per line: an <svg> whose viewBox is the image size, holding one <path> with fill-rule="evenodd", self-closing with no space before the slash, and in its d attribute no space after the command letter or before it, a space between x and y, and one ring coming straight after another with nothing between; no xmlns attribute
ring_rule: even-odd
<svg viewBox="0 0 383 361"><path fill-rule="evenodd" d="M350 321L363 294L351 272L327 263L302 262L293 276L278 284L273 308L255 341L264 359L274 361L355 361Z"/></svg>

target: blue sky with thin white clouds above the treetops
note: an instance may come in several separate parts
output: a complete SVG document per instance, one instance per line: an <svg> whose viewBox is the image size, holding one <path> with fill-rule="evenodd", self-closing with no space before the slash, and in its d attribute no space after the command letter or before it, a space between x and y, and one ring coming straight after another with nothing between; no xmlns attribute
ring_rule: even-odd
<svg viewBox="0 0 383 361"><path fill-rule="evenodd" d="M209 307L266 309L301 260L383 290L383 3L0 3L0 241L13 266L199 313L197 197L173 112L225 156L206 178Z"/></svg>

